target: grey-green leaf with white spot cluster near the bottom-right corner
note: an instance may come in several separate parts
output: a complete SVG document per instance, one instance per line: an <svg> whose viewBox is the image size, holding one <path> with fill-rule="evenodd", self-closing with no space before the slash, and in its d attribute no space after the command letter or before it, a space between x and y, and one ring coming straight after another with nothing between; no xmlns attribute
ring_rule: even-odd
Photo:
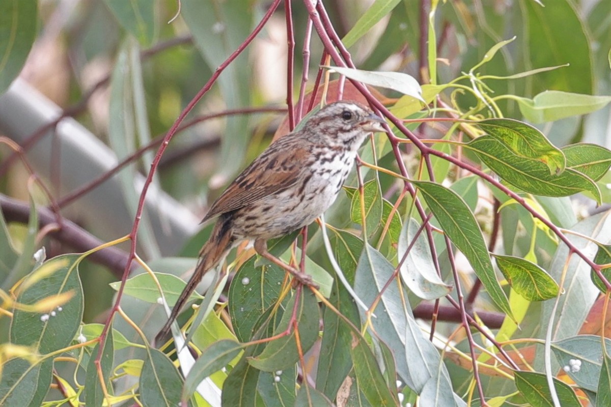
<svg viewBox="0 0 611 407"><path fill-rule="evenodd" d="M611 339L605 339L607 353L611 352ZM566 374L577 386L596 391L600 381L603 351L601 337L596 335L577 335L552 342L554 355ZM579 360L579 369L574 369L571 359Z"/></svg>

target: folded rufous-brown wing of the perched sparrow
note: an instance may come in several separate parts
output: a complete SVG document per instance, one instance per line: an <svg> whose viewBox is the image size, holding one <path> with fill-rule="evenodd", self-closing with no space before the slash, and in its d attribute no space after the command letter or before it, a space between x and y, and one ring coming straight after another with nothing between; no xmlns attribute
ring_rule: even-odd
<svg viewBox="0 0 611 407"><path fill-rule="evenodd" d="M311 153L303 147L289 147L283 139L272 143L238 175L214 201L202 222L282 192L299 181L299 171Z"/></svg>

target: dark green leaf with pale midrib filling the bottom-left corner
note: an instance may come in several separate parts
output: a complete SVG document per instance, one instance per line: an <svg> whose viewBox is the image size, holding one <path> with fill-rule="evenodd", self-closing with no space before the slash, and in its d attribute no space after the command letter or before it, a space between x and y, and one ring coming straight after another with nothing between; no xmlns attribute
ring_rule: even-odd
<svg viewBox="0 0 611 407"><path fill-rule="evenodd" d="M13 358L2 363L0 406L40 406L51 385L53 359L31 364Z"/></svg>

